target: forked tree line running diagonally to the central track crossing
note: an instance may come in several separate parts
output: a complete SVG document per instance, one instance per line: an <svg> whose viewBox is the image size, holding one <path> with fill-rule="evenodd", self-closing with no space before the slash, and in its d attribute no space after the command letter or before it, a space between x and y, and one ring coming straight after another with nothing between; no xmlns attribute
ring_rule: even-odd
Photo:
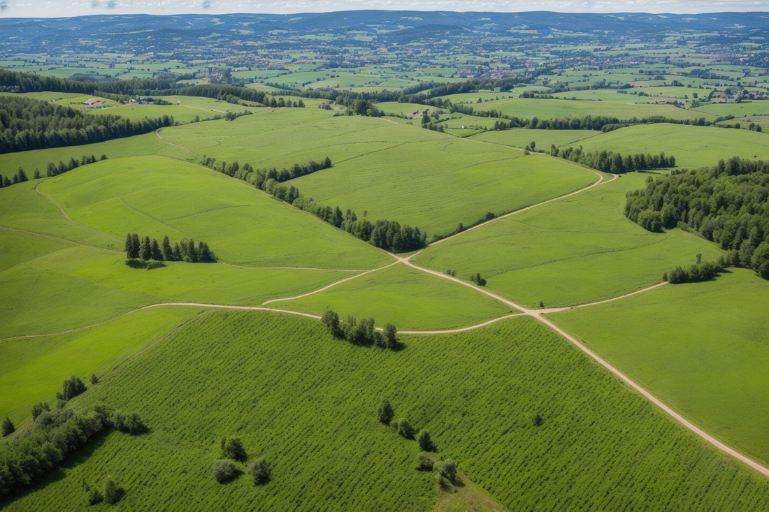
<svg viewBox="0 0 769 512"><path fill-rule="evenodd" d="M349 208L342 212L338 206L332 208L313 201L312 198L305 198L294 185L282 185L283 181L298 178L305 174L331 168L331 159L326 157L322 164L310 161L307 165L295 164L290 169L277 171L271 169L254 169L250 164L241 167L237 161L228 165L226 162L217 163L215 158L204 157L201 163L215 171L222 172L232 178L246 181L255 188L271 194L280 201L308 211L328 222L335 228L342 229L352 234L362 241L367 241L375 247L392 252L416 251L427 246L428 234L422 232L418 227L411 228L409 225L402 225L398 221L378 220L369 221L366 217L368 211L363 212L363 218L358 218L355 211ZM314 170L315 169L315 170Z"/></svg>

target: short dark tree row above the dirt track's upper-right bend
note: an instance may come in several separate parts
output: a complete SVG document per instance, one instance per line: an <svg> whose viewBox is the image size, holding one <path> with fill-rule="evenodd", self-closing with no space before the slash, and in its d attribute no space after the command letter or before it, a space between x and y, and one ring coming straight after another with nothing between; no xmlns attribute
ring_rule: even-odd
<svg viewBox="0 0 769 512"><path fill-rule="evenodd" d="M531 142L531 145L528 145L526 149L534 151L535 147L535 143ZM551 145L549 153L552 156L561 157L564 160L574 161L589 168L614 175L631 171L671 168L675 167L676 162L673 155L667 156L664 151L660 151L659 155L637 153L636 155L625 155L623 157L621 153L614 153L614 151L606 151L605 149L585 153L582 151L582 146L558 149L555 145Z"/></svg>

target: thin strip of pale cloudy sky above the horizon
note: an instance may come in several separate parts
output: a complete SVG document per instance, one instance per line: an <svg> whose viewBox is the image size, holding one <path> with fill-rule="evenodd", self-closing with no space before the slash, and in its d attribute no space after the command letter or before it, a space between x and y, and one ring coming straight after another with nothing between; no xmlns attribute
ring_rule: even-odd
<svg viewBox="0 0 769 512"><path fill-rule="evenodd" d="M89 14L157 15L207 12L329 12L348 9L415 11L559 11L702 13L769 11L769 0L0 0L3 17L52 17Z"/></svg>

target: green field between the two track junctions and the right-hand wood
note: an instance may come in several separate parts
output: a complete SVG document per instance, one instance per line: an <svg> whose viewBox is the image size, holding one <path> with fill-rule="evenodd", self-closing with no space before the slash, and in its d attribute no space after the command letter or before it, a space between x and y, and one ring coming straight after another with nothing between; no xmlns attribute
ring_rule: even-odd
<svg viewBox="0 0 769 512"><path fill-rule="evenodd" d="M479 272L488 288L519 304L546 308L586 304L657 284L676 265L721 254L715 244L673 230L651 233L622 213L627 191L646 175L598 185L589 191L511 215L425 249L414 264Z"/></svg>

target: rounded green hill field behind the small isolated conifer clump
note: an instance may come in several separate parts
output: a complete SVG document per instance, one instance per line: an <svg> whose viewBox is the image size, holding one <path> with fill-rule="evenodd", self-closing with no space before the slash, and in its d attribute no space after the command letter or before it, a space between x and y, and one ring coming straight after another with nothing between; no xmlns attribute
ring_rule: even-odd
<svg viewBox="0 0 769 512"><path fill-rule="evenodd" d="M291 208L244 181L160 157L88 165L40 186L79 223L121 241L208 243L220 261L259 267L375 268L391 259L373 246Z"/></svg>

